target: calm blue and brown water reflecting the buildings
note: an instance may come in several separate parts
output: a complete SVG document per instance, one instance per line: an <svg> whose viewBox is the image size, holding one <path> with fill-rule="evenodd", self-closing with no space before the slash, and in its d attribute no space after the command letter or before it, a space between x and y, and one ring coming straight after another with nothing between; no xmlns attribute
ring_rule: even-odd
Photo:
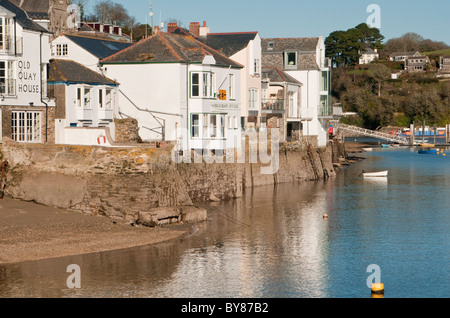
<svg viewBox="0 0 450 318"><path fill-rule="evenodd" d="M188 238L7 266L0 297L370 298L367 268L376 264L386 298L447 298L450 153L364 156L325 183L211 204ZM389 177L363 180L363 169ZM69 264L81 267L81 289L66 286Z"/></svg>

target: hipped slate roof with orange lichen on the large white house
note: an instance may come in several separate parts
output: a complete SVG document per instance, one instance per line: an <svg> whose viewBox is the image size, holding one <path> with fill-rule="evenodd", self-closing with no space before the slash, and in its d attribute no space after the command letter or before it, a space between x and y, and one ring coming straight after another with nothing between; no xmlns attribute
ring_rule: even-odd
<svg viewBox="0 0 450 318"><path fill-rule="evenodd" d="M205 55L212 55L216 65L242 68L243 66L191 35L158 32L133 46L112 55L102 63L179 62L202 63Z"/></svg>

